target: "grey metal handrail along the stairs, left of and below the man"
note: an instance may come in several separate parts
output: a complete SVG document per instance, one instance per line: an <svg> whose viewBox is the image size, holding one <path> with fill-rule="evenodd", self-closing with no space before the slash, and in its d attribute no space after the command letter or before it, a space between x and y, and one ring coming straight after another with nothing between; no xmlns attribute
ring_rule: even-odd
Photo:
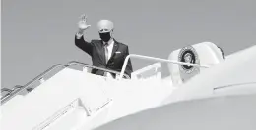
<svg viewBox="0 0 256 130"><path fill-rule="evenodd" d="M41 74L39 74L38 76L36 76L35 78L33 78L30 82L28 82L24 86L16 85L12 89L2 88L1 93L6 91L7 94L1 97L1 104L6 103L8 100L10 100L13 97L15 97L16 95L18 95L21 91L23 91L25 89L29 89L29 86L31 86L35 81L42 79L44 75L48 74L52 70L54 70L58 67L66 68L66 67L71 66L71 65L82 65L82 66L86 66L86 67L95 68L95 69L103 70L103 71L106 71L106 72L114 73L116 75L120 75L120 72L118 72L118 71L109 70L109 69L102 68L102 67L97 67L97 66L94 66L94 65L87 65L87 64L84 64L84 63L76 62L76 61L69 62L67 65L61 65L61 64L53 65L50 68L48 68L47 70L45 70L44 72L42 72ZM123 75L126 78L130 78L127 74L123 74Z"/></svg>

